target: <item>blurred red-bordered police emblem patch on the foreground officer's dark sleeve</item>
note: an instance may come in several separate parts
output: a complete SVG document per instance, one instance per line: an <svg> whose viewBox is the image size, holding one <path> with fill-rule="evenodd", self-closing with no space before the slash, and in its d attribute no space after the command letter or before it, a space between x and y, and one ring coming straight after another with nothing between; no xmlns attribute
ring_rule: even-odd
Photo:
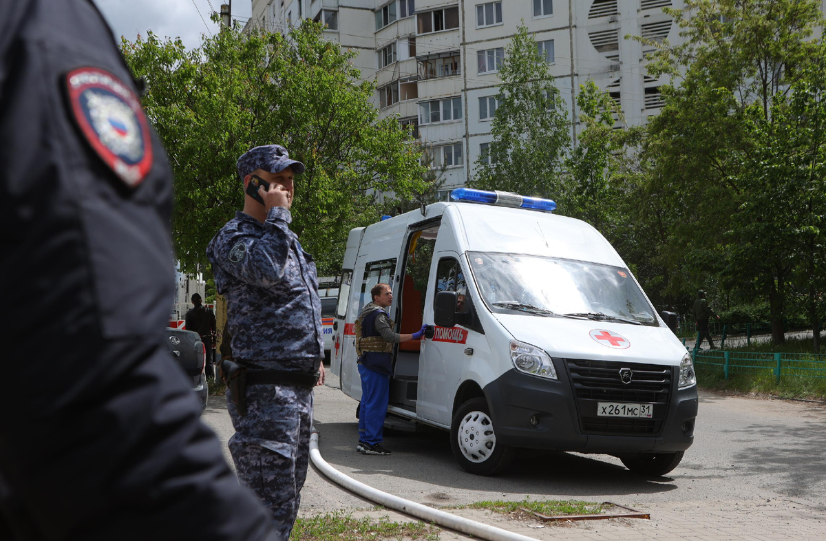
<svg viewBox="0 0 826 541"><path fill-rule="evenodd" d="M127 186L143 182L152 167L152 139L135 93L97 68L75 69L65 83L74 121L89 145Z"/></svg>

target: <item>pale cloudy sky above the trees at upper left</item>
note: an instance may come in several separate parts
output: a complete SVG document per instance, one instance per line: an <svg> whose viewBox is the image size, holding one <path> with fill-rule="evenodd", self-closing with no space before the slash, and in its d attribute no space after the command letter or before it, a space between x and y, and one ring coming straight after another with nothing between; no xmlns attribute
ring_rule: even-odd
<svg viewBox="0 0 826 541"><path fill-rule="evenodd" d="M210 21L213 11L221 10L227 0L93 0L106 17L115 37L134 41L151 30L157 36L180 36L183 45L194 49L201 36L214 34L218 26ZM251 0L232 2L232 18L243 25L252 12Z"/></svg>

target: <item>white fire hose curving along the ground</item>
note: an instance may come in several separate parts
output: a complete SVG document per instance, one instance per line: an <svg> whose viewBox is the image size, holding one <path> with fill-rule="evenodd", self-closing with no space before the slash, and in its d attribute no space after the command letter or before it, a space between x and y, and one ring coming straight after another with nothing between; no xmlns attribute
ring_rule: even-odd
<svg viewBox="0 0 826 541"><path fill-rule="evenodd" d="M480 539L489 539L489 541L537 541L527 535L515 534L506 529L496 528L496 526L451 515L442 510L421 505L415 501L405 500L404 498L387 494L387 492L382 492L372 486L365 485L363 482L356 481L353 477L344 475L344 473L339 472L335 467L326 463L324 458L321 458L321 453L318 450L318 432L315 428L310 436L310 458L320 472L330 478L330 481L343 486L349 491L355 492L358 496L363 496L370 501L374 501L390 509L401 511L406 515L415 516L418 519L439 524L439 526L444 526L444 528L453 529Z"/></svg>

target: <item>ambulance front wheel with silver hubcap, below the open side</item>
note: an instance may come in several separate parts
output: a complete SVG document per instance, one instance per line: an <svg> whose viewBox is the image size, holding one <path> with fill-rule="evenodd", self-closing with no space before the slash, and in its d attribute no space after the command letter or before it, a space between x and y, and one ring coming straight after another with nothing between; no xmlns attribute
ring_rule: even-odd
<svg viewBox="0 0 826 541"><path fill-rule="evenodd" d="M484 397L465 402L453 415L450 448L459 466L477 475L496 475L515 454L514 448L496 442Z"/></svg>

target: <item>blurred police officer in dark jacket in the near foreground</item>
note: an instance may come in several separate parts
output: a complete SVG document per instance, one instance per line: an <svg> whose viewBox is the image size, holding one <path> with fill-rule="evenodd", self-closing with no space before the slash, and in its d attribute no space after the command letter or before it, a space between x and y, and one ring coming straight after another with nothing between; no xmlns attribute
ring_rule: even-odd
<svg viewBox="0 0 826 541"><path fill-rule="evenodd" d="M172 184L89 0L0 0L2 539L278 539L164 344Z"/></svg>

